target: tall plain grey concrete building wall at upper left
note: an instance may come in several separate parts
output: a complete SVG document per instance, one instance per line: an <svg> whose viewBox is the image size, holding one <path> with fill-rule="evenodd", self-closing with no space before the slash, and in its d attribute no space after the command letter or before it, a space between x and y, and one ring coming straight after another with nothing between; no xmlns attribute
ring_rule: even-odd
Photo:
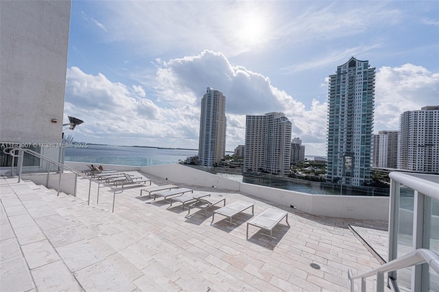
<svg viewBox="0 0 439 292"><path fill-rule="evenodd" d="M0 1L0 142L61 142L70 10Z"/></svg>

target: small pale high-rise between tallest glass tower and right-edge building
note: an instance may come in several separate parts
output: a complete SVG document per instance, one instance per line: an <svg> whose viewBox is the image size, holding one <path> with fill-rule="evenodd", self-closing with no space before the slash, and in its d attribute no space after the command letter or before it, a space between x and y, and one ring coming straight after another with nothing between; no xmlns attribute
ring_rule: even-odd
<svg viewBox="0 0 439 292"><path fill-rule="evenodd" d="M373 135L373 167L398 167L398 135L399 131L379 131Z"/></svg>

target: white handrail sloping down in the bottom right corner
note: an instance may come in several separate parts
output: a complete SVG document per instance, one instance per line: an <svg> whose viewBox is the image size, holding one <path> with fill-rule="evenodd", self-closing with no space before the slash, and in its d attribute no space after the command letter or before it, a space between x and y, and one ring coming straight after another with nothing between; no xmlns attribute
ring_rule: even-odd
<svg viewBox="0 0 439 292"><path fill-rule="evenodd" d="M354 276L352 269L348 269L348 278L351 282L351 292L354 291L354 280L361 279L361 292L366 291L366 278L369 276L377 275L377 292L384 291L384 273L389 271L396 271L399 269L404 269L406 267L412 267L414 265L427 263L436 273L439 273L439 255L431 250L420 248L414 250L401 258L395 258L394 260L372 269L361 275Z"/></svg>

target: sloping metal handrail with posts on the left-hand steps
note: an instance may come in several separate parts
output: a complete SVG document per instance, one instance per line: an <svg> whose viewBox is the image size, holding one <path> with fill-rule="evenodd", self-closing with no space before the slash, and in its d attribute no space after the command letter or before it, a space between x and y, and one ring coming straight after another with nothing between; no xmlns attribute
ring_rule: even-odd
<svg viewBox="0 0 439 292"><path fill-rule="evenodd" d="M8 149L10 149L8 151ZM15 154L15 151L19 151L19 154ZM60 195L60 187L61 187L61 175L62 175L62 171L68 170L71 171L72 173L75 173L75 193L74 196L76 197L76 180L78 179L78 175L87 178L88 180L90 180L90 184L88 185L88 202L87 205L90 205L90 196L91 196L91 182L95 182L97 183L97 204L99 204L99 189L105 186L108 186L112 192L113 192L113 198L112 198L112 212L115 212L115 200L116 200L116 193L122 193L123 192L123 188L121 191L117 192L117 188L115 188L114 186L111 186L110 184L106 184L102 181L99 180L95 180L94 178L91 178L90 176L86 175L85 173L81 173L80 171L77 171L71 167L67 167L66 165L63 165L62 163L53 160L51 158L48 158L46 156L44 156L43 154L40 154L34 150L31 149L26 149L26 148L21 148L21 147L15 147L15 148L5 148L3 149L3 153L4 154L9 154L10 156L12 156L12 169L11 169L11 175L14 175L14 158L17 157L19 158L19 162L17 164L17 168L18 168L18 175L19 175L19 182L21 181L21 169L23 168L23 155L24 152L31 154L32 156L36 156L42 160L45 160L47 162L50 162L53 165L56 165L57 167L60 167L60 178L58 180L58 195ZM50 167L49 165L47 166L47 180L46 180L46 186L49 185L49 171L50 171ZM103 186L101 186L101 184Z"/></svg>

